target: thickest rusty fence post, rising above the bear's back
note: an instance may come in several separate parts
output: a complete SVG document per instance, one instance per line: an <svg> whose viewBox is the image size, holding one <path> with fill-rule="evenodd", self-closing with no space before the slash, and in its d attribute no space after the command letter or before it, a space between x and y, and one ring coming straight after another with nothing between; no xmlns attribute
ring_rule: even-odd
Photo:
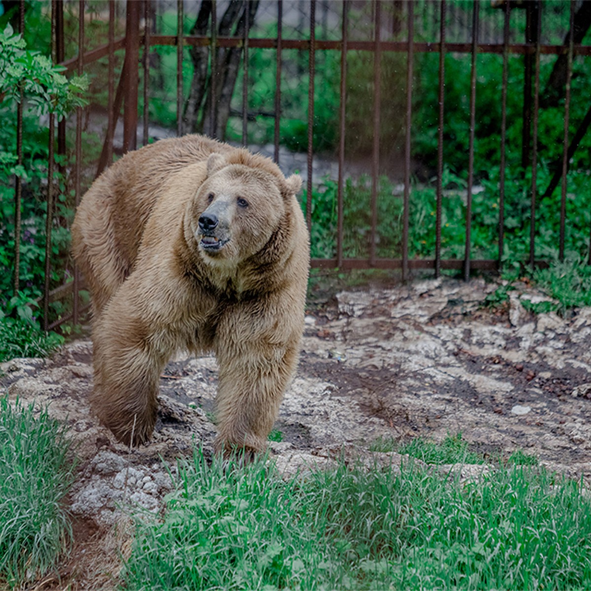
<svg viewBox="0 0 591 591"><path fill-rule="evenodd" d="M125 23L123 151L137 148L138 76L139 76L139 9L140 2L128 2Z"/></svg>

